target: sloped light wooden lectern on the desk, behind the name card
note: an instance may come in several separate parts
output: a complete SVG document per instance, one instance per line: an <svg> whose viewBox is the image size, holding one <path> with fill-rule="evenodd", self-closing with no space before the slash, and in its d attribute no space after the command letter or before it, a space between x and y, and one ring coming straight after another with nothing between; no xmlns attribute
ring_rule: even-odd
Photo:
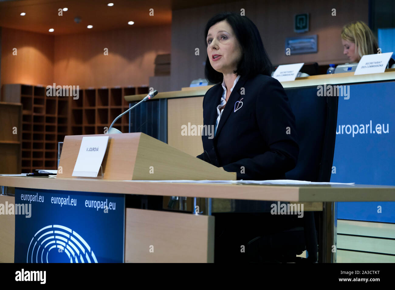
<svg viewBox="0 0 395 290"><path fill-rule="evenodd" d="M227 172L144 133L74 135L64 138L57 178L73 174L83 137L109 136L102 169L112 180L236 180Z"/></svg>

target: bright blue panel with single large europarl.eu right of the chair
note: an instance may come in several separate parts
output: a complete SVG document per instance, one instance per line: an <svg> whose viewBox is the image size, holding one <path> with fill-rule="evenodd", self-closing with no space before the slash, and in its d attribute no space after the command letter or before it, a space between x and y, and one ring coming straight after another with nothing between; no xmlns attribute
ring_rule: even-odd
<svg viewBox="0 0 395 290"><path fill-rule="evenodd" d="M350 85L348 97L339 96L332 182L395 185L394 95L395 82L382 82ZM395 223L395 202L337 206L338 219Z"/></svg>

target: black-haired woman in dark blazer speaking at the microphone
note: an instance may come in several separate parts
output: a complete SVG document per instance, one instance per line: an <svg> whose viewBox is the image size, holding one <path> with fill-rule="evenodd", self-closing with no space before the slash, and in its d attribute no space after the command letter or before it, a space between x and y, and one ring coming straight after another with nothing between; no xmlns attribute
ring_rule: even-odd
<svg viewBox="0 0 395 290"><path fill-rule="evenodd" d="M205 27L205 77L215 83L203 98L204 152L197 157L237 179L285 179L299 146L295 117L255 24L236 13L220 13ZM222 82L222 84L221 84Z"/></svg>

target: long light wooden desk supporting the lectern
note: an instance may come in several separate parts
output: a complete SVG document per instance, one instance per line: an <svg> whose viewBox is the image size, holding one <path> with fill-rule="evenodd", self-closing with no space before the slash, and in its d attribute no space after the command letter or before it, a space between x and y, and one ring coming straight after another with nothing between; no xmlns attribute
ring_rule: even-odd
<svg viewBox="0 0 395 290"><path fill-rule="evenodd" d="M199 184L199 183L152 183L127 180L100 180L85 178L55 179L47 177L11 177L0 176L0 186L21 187L31 189L49 189L65 191L83 191L98 193L121 193L126 195L163 195L212 198L216 200L278 200L289 202L323 202L323 225L320 245L320 261L335 260L335 253L331 253L331 245L336 244L335 201L395 201L395 186L379 185L237 185L237 184ZM0 195L3 200L12 196ZM14 199L15 202L15 199ZM214 209L213 209L214 210ZM7 220L5 219L7 218ZM0 215L0 261L13 262L13 245L15 232L12 232L12 221L8 215ZM15 219L15 218L14 218ZM149 219L149 220L147 220ZM164 221L167 221L164 223ZM160 225L158 221L162 221ZM178 221L178 224L176 223ZM191 223L192 228L182 226ZM127 209L126 210L126 246L125 261L149 262L147 256L135 250L143 241L136 238L134 231L144 231L145 235L154 235L159 226L171 224L166 231L161 231L162 239L158 243L174 241L173 248L162 253L155 262L213 262L214 217L176 213L168 211L154 211ZM147 229L147 225L151 227ZM147 230L151 232L147 233ZM191 239L191 231L205 232L198 239ZM9 233L4 235L4 233ZM163 236L164 235L164 236ZM194 235L196 236L196 235ZM209 241L207 243L207 240ZM145 241L144 241L145 242ZM196 255L191 254L185 244L191 243ZM181 247L181 248L180 248ZM182 249L180 251L180 249ZM196 250L198 249L198 250ZM193 252L193 251L192 251ZM205 253L205 256L201 256ZM130 258L133 257L133 258ZM200 257L200 258L199 258Z"/></svg>

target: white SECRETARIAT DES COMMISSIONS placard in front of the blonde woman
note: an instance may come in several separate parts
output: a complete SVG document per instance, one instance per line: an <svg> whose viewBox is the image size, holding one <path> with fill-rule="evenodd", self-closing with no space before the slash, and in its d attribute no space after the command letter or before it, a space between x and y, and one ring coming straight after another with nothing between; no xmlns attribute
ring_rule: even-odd
<svg viewBox="0 0 395 290"><path fill-rule="evenodd" d="M393 52L367 54L362 56L355 69L354 75L366 75L367 73L384 73Z"/></svg>

